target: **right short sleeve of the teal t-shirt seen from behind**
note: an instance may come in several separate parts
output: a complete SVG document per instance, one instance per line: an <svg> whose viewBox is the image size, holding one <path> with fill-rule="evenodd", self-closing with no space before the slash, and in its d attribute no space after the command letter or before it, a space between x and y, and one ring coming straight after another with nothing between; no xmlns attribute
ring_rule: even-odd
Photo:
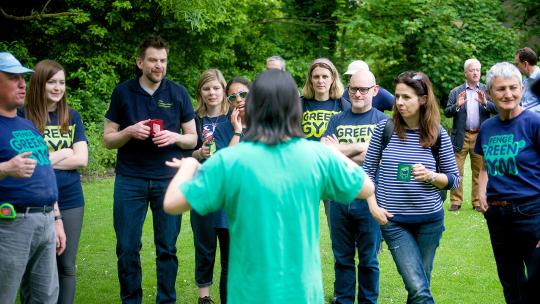
<svg viewBox="0 0 540 304"><path fill-rule="evenodd" d="M364 184L364 170L360 166L349 165L330 150L328 153L328 164L325 166L328 175L322 198L351 202Z"/></svg>

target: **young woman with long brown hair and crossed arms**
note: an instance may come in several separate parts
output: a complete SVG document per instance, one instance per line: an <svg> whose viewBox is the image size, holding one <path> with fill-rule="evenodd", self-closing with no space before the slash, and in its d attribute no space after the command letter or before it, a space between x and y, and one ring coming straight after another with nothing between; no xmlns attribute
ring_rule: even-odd
<svg viewBox="0 0 540 304"><path fill-rule="evenodd" d="M52 60L34 67L24 114L43 134L58 184L58 206L63 219L66 250L57 257L60 294L58 303L73 303L75 297L75 261L81 236L84 196L77 169L88 162L88 145L79 113L66 98L66 72Z"/></svg>

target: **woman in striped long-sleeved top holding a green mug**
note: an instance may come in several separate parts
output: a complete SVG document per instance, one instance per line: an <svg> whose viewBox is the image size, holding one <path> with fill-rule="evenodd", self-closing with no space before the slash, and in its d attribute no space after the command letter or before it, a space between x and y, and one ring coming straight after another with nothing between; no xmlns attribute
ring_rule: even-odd
<svg viewBox="0 0 540 304"><path fill-rule="evenodd" d="M377 125L364 161L372 179L378 174L377 202L368 203L405 283L407 303L434 303L431 270L444 231L439 190L455 189L459 171L427 75L405 72L394 84L391 124ZM383 144L385 129L390 134Z"/></svg>

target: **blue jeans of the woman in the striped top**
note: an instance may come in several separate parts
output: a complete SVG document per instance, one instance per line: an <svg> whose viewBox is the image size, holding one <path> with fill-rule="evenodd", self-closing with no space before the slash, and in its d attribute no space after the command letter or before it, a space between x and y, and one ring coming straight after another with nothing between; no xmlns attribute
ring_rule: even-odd
<svg viewBox="0 0 540 304"><path fill-rule="evenodd" d="M405 283L407 303L434 303L429 286L444 219L419 224L388 222L381 231Z"/></svg>

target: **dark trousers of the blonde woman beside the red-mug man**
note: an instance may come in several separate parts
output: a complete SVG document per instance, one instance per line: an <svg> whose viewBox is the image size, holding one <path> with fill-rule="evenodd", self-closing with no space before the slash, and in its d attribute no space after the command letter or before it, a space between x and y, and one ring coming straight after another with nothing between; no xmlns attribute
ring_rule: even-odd
<svg viewBox="0 0 540 304"><path fill-rule="evenodd" d="M191 210L191 229L195 245L195 283L198 288L212 285L216 261L217 241L221 250L219 294L221 303L227 302L227 273L229 269L229 229L214 227L214 214L200 215Z"/></svg>

